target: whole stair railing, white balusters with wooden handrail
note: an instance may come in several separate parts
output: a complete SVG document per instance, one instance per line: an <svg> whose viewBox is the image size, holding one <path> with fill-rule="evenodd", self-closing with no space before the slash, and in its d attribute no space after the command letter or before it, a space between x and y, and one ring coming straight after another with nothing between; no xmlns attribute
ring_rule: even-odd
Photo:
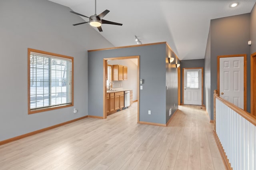
<svg viewBox="0 0 256 170"><path fill-rule="evenodd" d="M256 170L256 118L214 95L214 132L233 170ZM225 160L225 159L224 159ZM227 164L227 163L226 163ZM227 167L227 166L226 166ZM227 167L228 168L228 167Z"/></svg>

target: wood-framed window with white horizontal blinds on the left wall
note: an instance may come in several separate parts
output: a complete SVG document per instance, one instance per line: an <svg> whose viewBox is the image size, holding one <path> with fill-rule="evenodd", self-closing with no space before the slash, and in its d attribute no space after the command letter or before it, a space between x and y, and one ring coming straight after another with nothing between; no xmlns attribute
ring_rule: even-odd
<svg viewBox="0 0 256 170"><path fill-rule="evenodd" d="M73 57L28 49L28 114L73 106Z"/></svg>

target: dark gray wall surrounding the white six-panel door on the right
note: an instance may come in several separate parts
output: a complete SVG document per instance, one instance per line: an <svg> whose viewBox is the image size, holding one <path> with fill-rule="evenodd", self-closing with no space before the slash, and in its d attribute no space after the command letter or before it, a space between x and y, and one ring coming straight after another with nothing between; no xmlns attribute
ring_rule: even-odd
<svg viewBox="0 0 256 170"><path fill-rule="evenodd" d="M213 92L217 89L217 56L247 54L247 111L250 112L250 14L242 14L211 20L210 24L210 69L211 69L211 106ZM213 113L213 107L211 107ZM211 114L213 120L213 114Z"/></svg>

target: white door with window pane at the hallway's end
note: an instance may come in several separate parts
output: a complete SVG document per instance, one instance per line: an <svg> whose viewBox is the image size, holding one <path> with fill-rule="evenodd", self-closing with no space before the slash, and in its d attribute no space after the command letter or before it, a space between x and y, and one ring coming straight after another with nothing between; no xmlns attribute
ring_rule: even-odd
<svg viewBox="0 0 256 170"><path fill-rule="evenodd" d="M202 69L184 69L184 105L202 105Z"/></svg>

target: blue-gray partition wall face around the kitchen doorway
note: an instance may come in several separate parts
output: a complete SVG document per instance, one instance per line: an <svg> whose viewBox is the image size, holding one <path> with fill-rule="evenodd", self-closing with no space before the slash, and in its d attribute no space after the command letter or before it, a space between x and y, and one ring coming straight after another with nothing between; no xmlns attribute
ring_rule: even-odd
<svg viewBox="0 0 256 170"><path fill-rule="evenodd" d="M103 116L103 59L140 55L140 121L166 123L166 44L88 52L88 113ZM148 110L151 115L148 115Z"/></svg>

